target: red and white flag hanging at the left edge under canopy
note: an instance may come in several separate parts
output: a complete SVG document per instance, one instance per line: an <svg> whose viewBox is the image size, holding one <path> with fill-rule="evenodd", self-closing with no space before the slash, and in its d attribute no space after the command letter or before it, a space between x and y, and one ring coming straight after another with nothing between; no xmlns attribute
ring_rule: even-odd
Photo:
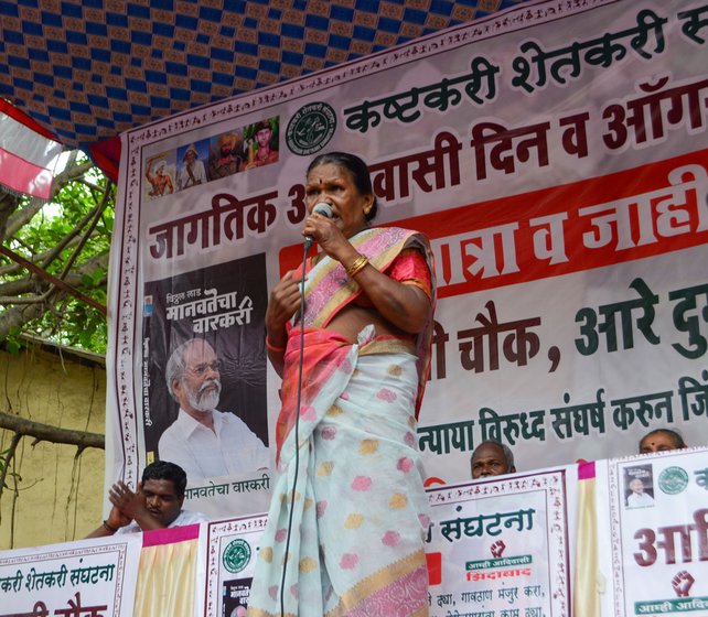
<svg viewBox="0 0 708 617"><path fill-rule="evenodd" d="M0 99L0 184L49 199L62 144L32 118Z"/></svg>

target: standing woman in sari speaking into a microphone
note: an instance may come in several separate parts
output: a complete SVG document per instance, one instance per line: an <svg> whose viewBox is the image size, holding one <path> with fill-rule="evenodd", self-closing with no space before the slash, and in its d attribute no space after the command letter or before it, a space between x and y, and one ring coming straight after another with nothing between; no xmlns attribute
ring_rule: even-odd
<svg viewBox="0 0 708 617"><path fill-rule="evenodd" d="M305 202L302 232L320 252L305 267L303 323L302 272L280 280L266 312L268 356L283 379L280 475L248 615L427 615L416 416L435 307L429 245L369 227L376 198L352 154L314 159ZM313 212L322 203L331 217Z"/></svg>

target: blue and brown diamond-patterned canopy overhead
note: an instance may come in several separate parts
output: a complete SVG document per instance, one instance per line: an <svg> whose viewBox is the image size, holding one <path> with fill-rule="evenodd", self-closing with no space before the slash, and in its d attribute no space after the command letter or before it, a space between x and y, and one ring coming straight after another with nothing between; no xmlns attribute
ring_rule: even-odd
<svg viewBox="0 0 708 617"><path fill-rule="evenodd" d="M0 97L110 159L132 127L518 1L0 0Z"/></svg>

